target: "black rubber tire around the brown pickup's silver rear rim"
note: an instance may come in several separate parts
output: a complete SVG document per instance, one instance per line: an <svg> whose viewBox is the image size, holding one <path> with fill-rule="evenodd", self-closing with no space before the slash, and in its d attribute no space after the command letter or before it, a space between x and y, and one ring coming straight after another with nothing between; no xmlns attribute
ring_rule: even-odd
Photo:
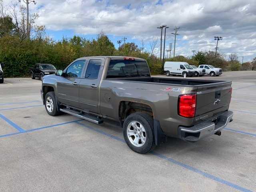
<svg viewBox="0 0 256 192"><path fill-rule="evenodd" d="M142 126L144 127L144 130L146 132L146 142L140 147L137 147L134 144L132 144L130 142L129 138L128 138L128 135L127 135L128 125L132 121L137 121L140 124L142 124ZM155 147L154 120L153 120L153 118L150 115L148 115L146 113L143 113L143 112L136 112L136 113L130 114L124 121L123 135L124 135L124 140L125 140L126 144L134 152L137 152L137 153L140 153L140 154L145 154L145 153L150 152ZM134 139L135 139L135 136L134 136Z"/></svg>

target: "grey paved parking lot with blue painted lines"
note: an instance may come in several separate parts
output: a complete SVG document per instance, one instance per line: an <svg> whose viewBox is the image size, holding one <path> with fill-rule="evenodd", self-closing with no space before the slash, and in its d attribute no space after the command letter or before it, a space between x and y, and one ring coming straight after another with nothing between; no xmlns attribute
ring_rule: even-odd
<svg viewBox="0 0 256 192"><path fill-rule="evenodd" d="M146 155L126 146L115 122L49 116L40 80L5 79L0 191L256 191L256 71L198 78L232 80L234 121L222 136L168 138Z"/></svg>

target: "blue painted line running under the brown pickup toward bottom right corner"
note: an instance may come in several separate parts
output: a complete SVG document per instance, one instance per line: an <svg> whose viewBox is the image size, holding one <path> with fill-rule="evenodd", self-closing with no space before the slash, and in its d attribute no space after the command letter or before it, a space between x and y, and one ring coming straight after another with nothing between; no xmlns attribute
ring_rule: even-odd
<svg viewBox="0 0 256 192"><path fill-rule="evenodd" d="M124 139L121 139L121 138L119 138L119 137L117 137L117 136L108 134L108 133L106 133L106 132L104 132L104 131L102 131L102 130L98 130L98 129L96 129L96 128L93 128L93 127L84 125L84 124L79 123L79 122L76 122L76 124L79 124L79 125L84 126L84 127L88 128L88 129L90 129L90 130L93 130L93 131L95 131L95 132L98 132L98 133L100 133L100 134L103 134L103 135L105 135L105 136L108 136L109 138L112 138L112 139L114 139L114 140L118 140L118 141L121 141L121 142L124 142L124 143L125 143ZM230 186L230 187L232 187L232 188L234 188L234 189L240 190L240 191L242 191L242 192L252 192L252 191L249 190L249 189L243 188L243 187L241 187L241 186L239 186L239 185L236 185L236 184L234 184L234 183L232 183L232 182L229 182L229 181L227 181L227 180L224 180L224 179L222 179L222 178L218 178L218 177L216 177L216 176L214 176L214 175L212 175L212 174L203 172L203 171L201 171L201 170L199 170L199 169L197 169L197 168L194 168L194 167L189 166L189 165L187 165L187 164L184 164L184 163L182 163L182 162L178 162L178 161L176 161L176 160L174 160L174 159L172 159L172 158L169 158L169 157L167 157L167 156L165 156L165 155L156 153L156 152L154 152L154 151L152 151L152 152L150 152L150 153L153 154L153 155L155 155L155 156L157 156L157 157L159 157L159 158L161 158L161 159L164 159L164 160L167 160L167 161L169 161L169 162L172 162L173 164L176 164L176 165L178 165L178 166L181 166L181 167L183 167L183 168L186 168L186 169L188 169L188 170L191 170L191 171L193 171L193 172L196 172L196 173L198 173L198 174L200 174L200 175L202 175L202 176L204 176L204 177L206 177L206 178L209 178L209 179L215 180L215 181L217 181L217 182L219 182L219 183L222 183L222 184L224 184L224 185Z"/></svg>

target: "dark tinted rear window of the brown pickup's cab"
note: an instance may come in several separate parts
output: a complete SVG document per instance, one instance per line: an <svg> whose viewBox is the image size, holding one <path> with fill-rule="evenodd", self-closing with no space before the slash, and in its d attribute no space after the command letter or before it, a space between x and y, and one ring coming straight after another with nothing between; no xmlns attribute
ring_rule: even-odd
<svg viewBox="0 0 256 192"><path fill-rule="evenodd" d="M150 71L145 61L111 60L106 78L149 77Z"/></svg>

